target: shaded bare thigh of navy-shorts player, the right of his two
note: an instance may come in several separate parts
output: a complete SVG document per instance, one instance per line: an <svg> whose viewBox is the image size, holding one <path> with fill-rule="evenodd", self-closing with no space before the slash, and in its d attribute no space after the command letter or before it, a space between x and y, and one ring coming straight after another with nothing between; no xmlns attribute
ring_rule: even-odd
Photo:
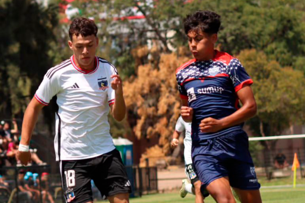
<svg viewBox="0 0 305 203"><path fill-rule="evenodd" d="M233 190L239 197L239 200L242 203L261 203L262 199L260 197L259 190L242 190L239 188L233 187Z"/></svg>

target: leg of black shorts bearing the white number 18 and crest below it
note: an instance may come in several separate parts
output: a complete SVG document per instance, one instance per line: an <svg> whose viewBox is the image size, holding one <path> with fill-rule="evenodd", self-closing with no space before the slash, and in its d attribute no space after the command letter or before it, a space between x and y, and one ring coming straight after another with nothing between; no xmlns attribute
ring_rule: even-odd
<svg viewBox="0 0 305 203"><path fill-rule="evenodd" d="M67 202L93 201L91 170L87 165L86 160L61 161L63 192Z"/></svg>

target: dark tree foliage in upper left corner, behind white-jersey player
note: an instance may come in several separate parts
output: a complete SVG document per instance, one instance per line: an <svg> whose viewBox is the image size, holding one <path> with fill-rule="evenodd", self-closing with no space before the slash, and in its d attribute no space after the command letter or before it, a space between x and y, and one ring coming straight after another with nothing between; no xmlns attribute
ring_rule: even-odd
<svg viewBox="0 0 305 203"><path fill-rule="evenodd" d="M22 113L52 60L56 7L30 0L0 2L0 111ZM27 99L24 99L27 98Z"/></svg>

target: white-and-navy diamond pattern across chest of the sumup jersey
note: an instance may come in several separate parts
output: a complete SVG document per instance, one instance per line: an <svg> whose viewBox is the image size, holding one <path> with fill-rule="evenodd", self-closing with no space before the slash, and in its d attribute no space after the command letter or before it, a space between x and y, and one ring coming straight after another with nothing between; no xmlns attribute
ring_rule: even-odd
<svg viewBox="0 0 305 203"><path fill-rule="evenodd" d="M196 62L188 65L184 69L180 70L179 72L177 72L177 74L176 74L177 82L178 82L178 84L181 84L181 83L185 82L185 80L190 79L190 78L199 79L199 78L203 78L206 76L214 76L214 75L210 74L210 71L209 71L210 68L216 68L214 70L217 70L217 68L218 68L218 71L216 71L216 72L214 71L213 73L228 74L228 66L225 63L223 63L222 61L213 61L213 60L196 61Z"/></svg>

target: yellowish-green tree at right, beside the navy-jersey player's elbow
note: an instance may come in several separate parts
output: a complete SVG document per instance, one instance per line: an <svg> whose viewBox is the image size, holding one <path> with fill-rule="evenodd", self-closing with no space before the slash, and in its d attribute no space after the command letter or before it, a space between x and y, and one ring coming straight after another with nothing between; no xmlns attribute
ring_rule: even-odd
<svg viewBox="0 0 305 203"><path fill-rule="evenodd" d="M253 78L257 117L250 120L259 135L281 135L291 124L305 123L305 79L303 73L281 67L262 51L245 50L239 60Z"/></svg>

